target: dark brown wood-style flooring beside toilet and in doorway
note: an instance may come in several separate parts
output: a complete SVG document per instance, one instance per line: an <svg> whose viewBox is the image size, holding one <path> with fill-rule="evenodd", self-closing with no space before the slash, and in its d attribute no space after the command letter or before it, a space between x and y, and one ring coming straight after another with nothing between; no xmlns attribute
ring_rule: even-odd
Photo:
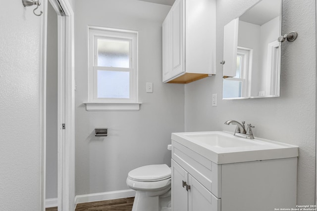
<svg viewBox="0 0 317 211"><path fill-rule="evenodd" d="M75 211L132 211L134 197L77 204ZM46 211L57 211L47 208Z"/></svg>

